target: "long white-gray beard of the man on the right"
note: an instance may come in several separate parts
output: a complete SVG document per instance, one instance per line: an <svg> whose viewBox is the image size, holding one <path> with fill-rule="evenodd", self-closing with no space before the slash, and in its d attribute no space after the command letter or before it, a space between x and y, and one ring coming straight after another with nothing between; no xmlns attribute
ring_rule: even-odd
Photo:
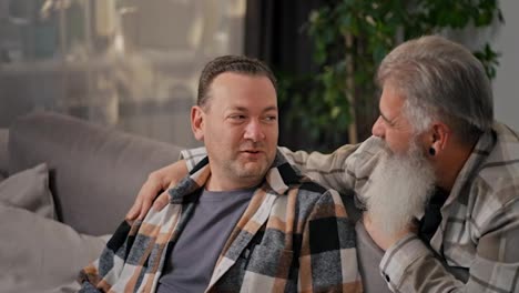
<svg viewBox="0 0 519 293"><path fill-rule="evenodd" d="M384 155L369 180L367 213L374 225L391 235L424 213L435 186L435 172L413 143L405 154Z"/></svg>

